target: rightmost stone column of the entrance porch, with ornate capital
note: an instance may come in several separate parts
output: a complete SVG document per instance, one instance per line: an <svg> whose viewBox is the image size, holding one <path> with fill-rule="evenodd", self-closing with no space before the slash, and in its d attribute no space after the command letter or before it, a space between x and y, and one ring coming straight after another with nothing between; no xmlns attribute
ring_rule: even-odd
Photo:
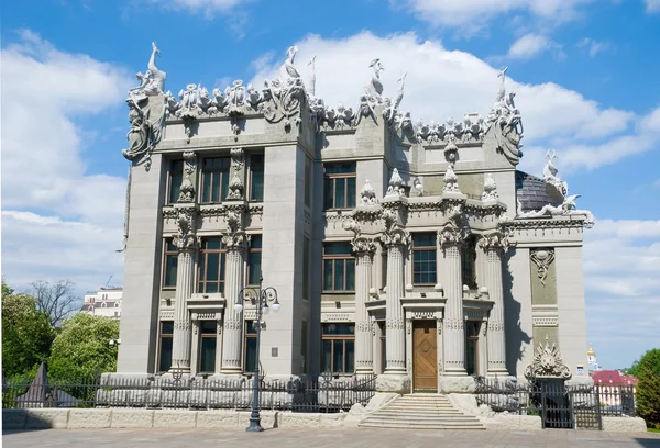
<svg viewBox="0 0 660 448"><path fill-rule="evenodd" d="M499 235L485 235L480 245L486 256L485 284L493 301L488 317L486 343L488 346L488 374L507 376L506 340L504 334L504 290L502 285L503 243ZM504 244L506 246L506 243Z"/></svg>

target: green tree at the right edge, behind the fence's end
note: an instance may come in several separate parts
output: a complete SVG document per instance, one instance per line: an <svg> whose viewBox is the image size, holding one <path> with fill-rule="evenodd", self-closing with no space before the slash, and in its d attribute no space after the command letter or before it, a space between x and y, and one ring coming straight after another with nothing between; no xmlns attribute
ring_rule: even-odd
<svg viewBox="0 0 660 448"><path fill-rule="evenodd" d="M660 428L660 348L647 351L630 368L637 383L637 415L650 428Z"/></svg>

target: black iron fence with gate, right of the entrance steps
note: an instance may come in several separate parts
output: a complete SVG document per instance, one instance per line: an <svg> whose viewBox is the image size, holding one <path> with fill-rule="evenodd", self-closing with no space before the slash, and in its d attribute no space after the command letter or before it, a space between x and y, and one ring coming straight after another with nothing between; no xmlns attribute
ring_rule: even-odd
<svg viewBox="0 0 660 448"><path fill-rule="evenodd" d="M475 395L479 404L486 404L495 412L538 415L543 428L602 429L603 415L635 415L632 385L565 384L558 379L521 383L477 378Z"/></svg>

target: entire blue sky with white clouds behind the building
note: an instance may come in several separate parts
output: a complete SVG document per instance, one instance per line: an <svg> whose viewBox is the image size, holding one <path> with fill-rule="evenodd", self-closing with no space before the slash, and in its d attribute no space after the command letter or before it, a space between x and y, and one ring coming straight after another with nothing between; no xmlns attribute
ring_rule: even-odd
<svg viewBox="0 0 660 448"><path fill-rule="evenodd" d="M355 108L374 57L386 94L408 70L414 120L485 115L508 66L520 169L540 173L554 148L596 217L584 269L600 362L660 343L660 0L52 0L10 2L1 25L2 275L18 289L121 283L123 100L152 41L175 93L261 85L296 44L330 105Z"/></svg>

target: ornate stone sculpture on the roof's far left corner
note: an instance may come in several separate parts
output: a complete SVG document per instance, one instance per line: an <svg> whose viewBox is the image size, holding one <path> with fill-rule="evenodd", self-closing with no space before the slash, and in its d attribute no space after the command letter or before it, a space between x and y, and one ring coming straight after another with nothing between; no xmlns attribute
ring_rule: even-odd
<svg viewBox="0 0 660 448"><path fill-rule="evenodd" d="M148 171L151 168L151 154L162 137L163 124L165 122L165 71L156 67L156 55L161 51L152 43L152 55L148 60L148 70L145 75L138 74L141 85L129 90L127 103L129 104L129 122L131 128L127 134L129 141L128 149L121 154L136 164L144 164Z"/></svg>

